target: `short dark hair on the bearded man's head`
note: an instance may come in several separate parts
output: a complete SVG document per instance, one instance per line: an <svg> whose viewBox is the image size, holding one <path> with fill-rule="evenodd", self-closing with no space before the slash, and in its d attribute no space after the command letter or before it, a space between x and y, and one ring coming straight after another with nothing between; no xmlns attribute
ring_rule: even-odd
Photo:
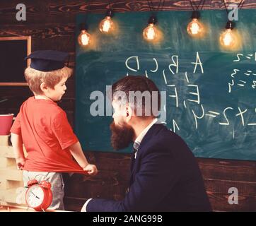
<svg viewBox="0 0 256 226"><path fill-rule="evenodd" d="M151 81L149 78L146 78L146 76L125 76L124 78L120 79L112 85L112 100L115 97L115 93L120 91L126 94L127 102L131 100L129 99L129 97L134 98L134 112L137 116L157 116L154 112L158 112L160 110L161 95L156 84L153 83L153 81ZM140 98L141 100L139 100L136 97L137 91L146 95ZM131 93L135 93L135 95L131 96ZM145 105L146 97L149 97L149 100L151 102L150 106ZM138 114L138 106L141 108L142 115ZM149 107L149 113L146 114L147 108Z"/></svg>

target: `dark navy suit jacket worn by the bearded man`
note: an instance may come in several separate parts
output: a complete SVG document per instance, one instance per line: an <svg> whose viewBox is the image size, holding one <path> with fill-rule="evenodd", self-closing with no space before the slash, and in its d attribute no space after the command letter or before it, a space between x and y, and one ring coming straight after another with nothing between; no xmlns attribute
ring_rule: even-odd
<svg viewBox="0 0 256 226"><path fill-rule="evenodd" d="M93 198L87 211L211 211L194 155L162 124L146 133L132 161L123 201Z"/></svg>

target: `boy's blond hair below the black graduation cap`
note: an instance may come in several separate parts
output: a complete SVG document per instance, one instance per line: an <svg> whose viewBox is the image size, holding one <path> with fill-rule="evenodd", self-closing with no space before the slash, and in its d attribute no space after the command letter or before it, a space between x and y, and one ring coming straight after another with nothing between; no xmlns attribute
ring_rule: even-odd
<svg viewBox="0 0 256 226"><path fill-rule="evenodd" d="M45 83L50 88L54 89L54 86L59 83L62 78L66 76L69 78L72 75L73 70L64 66L64 68L55 71L37 71L28 66L25 69L25 80L28 83L30 90L35 94L42 94L40 85Z"/></svg>

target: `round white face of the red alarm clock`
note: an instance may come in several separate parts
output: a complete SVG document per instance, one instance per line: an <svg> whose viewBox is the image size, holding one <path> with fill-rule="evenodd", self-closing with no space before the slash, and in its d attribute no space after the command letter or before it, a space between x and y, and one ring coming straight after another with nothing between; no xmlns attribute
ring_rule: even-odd
<svg viewBox="0 0 256 226"><path fill-rule="evenodd" d="M37 206L40 206L45 198L45 191L42 189L41 186L34 185L31 186L26 194L26 201L28 203L28 206L35 208Z"/></svg>

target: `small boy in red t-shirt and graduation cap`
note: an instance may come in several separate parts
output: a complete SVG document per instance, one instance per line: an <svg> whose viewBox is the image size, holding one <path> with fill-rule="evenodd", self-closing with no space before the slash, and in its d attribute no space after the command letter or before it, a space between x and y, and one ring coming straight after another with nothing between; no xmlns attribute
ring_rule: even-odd
<svg viewBox="0 0 256 226"><path fill-rule="evenodd" d="M11 140L18 169L23 169L23 182L46 179L52 184L50 208L64 210L64 183L61 172L97 174L83 155L66 113L58 107L72 70L64 65L68 54L42 50L30 54L25 79L34 96L21 105L11 127ZM28 153L25 158L23 144ZM73 158L76 160L74 161Z"/></svg>

